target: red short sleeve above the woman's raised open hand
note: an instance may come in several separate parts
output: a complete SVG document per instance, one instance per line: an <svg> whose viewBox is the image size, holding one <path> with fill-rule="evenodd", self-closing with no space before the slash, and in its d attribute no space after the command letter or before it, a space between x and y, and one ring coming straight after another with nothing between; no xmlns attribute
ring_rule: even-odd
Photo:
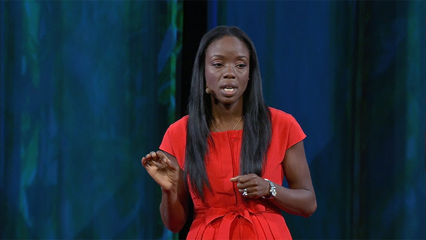
<svg viewBox="0 0 426 240"><path fill-rule="evenodd" d="M188 117L185 116L171 124L164 133L160 144L160 150L173 155L181 169L185 162L187 121Z"/></svg>

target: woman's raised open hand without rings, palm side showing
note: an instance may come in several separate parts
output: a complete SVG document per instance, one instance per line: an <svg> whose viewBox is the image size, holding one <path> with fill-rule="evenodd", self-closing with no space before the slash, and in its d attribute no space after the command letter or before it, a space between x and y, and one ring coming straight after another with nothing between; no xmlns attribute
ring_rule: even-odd
<svg viewBox="0 0 426 240"><path fill-rule="evenodd" d="M176 189L179 166L175 166L162 151L147 154L142 158L142 165L164 190Z"/></svg>

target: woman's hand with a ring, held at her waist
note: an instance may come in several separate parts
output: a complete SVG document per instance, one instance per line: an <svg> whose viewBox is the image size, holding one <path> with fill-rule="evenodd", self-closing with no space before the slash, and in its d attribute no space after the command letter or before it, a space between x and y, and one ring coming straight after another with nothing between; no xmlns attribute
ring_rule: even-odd
<svg viewBox="0 0 426 240"><path fill-rule="evenodd" d="M230 179L230 181L238 182L237 187L241 194L243 194L244 189L247 188L248 195L245 197L260 198L263 196L269 196L269 182L256 174L236 176Z"/></svg>

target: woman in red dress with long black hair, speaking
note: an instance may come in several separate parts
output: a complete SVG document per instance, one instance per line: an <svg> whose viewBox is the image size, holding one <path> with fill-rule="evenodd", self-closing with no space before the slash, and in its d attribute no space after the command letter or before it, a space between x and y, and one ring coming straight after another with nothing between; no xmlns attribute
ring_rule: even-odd
<svg viewBox="0 0 426 240"><path fill-rule="evenodd" d="M291 115L266 106L255 47L240 29L204 35L188 112L167 129L162 151L142 158L161 186L164 225L183 227L189 191L188 239L291 239L280 209L308 217L317 208L306 135Z"/></svg>

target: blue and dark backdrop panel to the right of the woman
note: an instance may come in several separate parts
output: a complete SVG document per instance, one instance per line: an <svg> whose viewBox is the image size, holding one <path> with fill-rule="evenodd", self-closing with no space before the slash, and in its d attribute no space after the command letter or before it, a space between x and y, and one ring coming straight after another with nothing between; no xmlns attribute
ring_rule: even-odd
<svg viewBox="0 0 426 240"><path fill-rule="evenodd" d="M425 1L209 1L253 40L269 106L307 134L295 239L425 239Z"/></svg>

